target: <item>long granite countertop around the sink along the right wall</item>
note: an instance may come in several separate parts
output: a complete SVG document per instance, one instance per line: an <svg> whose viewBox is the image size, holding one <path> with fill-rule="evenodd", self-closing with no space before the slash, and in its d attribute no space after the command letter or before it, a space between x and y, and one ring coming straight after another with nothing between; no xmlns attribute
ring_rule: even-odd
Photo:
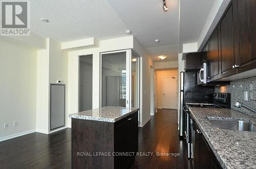
<svg viewBox="0 0 256 169"><path fill-rule="evenodd" d="M247 120L256 118L225 108L189 107L191 115L223 168L256 168L256 132L214 127L206 117Z"/></svg>

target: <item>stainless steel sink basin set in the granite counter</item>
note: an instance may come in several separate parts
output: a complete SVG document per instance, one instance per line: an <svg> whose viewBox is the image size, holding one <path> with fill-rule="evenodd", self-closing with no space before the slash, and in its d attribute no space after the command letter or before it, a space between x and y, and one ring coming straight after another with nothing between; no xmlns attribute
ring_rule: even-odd
<svg viewBox="0 0 256 169"><path fill-rule="evenodd" d="M251 122L248 122L248 121L229 120L229 119L212 119L212 118L207 118L207 120L214 127L218 127L218 128L222 128L222 129L256 132L255 126Z"/></svg>

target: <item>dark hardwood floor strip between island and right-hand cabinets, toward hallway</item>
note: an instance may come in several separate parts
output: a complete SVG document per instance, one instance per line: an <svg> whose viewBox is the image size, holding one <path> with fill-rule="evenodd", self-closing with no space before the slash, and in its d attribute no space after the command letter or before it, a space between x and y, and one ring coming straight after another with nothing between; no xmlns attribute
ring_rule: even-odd
<svg viewBox="0 0 256 169"><path fill-rule="evenodd" d="M179 139L177 110L158 109L155 116L139 129L139 152L155 156L137 156L131 168L192 168L186 145ZM156 156L156 153L180 153L180 156Z"/></svg>

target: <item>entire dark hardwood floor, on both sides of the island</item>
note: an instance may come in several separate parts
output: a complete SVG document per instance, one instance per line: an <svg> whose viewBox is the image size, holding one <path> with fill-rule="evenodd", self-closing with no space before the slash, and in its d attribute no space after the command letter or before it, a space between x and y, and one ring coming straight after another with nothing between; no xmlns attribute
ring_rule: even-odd
<svg viewBox="0 0 256 169"><path fill-rule="evenodd" d="M177 110L159 109L139 128L139 152L131 168L191 168L177 130ZM180 153L180 156L156 156ZM155 156L154 156L155 155ZM71 168L71 129L52 134L32 133L0 143L0 168Z"/></svg>

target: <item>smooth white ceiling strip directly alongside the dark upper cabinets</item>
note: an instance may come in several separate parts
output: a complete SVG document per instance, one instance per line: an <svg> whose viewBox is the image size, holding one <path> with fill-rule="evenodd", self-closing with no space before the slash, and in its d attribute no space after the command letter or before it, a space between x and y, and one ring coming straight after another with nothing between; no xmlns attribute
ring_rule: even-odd
<svg viewBox="0 0 256 169"><path fill-rule="evenodd" d="M197 42L215 0L180 1L179 52L182 44Z"/></svg>

